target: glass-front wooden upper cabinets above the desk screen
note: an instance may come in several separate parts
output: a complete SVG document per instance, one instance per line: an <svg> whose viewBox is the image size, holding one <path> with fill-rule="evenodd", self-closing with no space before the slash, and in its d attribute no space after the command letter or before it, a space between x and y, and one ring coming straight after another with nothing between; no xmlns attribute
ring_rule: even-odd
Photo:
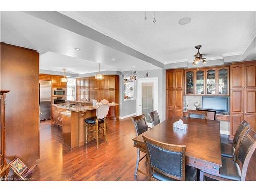
<svg viewBox="0 0 256 192"><path fill-rule="evenodd" d="M185 95L229 95L229 66L186 69Z"/></svg>

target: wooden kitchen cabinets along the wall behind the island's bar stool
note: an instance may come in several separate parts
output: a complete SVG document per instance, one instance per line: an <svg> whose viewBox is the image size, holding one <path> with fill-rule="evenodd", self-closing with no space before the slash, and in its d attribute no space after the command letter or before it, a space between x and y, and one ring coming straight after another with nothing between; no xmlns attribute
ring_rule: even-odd
<svg viewBox="0 0 256 192"><path fill-rule="evenodd" d="M104 75L103 80L95 77L77 78L76 100L82 98L119 103L119 75ZM111 106L108 117L119 118L119 106Z"/></svg>

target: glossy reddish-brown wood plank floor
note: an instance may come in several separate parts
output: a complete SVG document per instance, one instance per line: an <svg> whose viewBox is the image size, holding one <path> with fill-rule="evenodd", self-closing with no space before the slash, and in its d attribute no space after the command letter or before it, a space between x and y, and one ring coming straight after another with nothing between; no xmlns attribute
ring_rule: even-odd
<svg viewBox="0 0 256 192"><path fill-rule="evenodd" d="M100 141L97 149L96 142L91 141L70 150L63 144L62 129L52 121L42 122L40 159L32 178L39 181L146 181L143 174L134 177L137 153L132 142L134 137L130 118L108 120L108 143ZM139 168L147 171L144 160ZM249 168L248 180L255 180L255 167Z"/></svg>

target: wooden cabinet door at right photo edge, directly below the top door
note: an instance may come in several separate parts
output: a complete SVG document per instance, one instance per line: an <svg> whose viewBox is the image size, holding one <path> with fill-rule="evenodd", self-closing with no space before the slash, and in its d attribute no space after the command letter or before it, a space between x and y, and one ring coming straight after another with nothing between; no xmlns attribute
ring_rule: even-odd
<svg viewBox="0 0 256 192"><path fill-rule="evenodd" d="M244 113L256 115L256 89L244 90Z"/></svg>

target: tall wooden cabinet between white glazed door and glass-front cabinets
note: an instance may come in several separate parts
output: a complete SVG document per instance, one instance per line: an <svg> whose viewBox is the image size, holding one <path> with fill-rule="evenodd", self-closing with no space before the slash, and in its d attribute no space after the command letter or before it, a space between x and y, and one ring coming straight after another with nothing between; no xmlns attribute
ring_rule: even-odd
<svg viewBox="0 0 256 192"><path fill-rule="evenodd" d="M183 116L184 70L166 70L166 118Z"/></svg>

